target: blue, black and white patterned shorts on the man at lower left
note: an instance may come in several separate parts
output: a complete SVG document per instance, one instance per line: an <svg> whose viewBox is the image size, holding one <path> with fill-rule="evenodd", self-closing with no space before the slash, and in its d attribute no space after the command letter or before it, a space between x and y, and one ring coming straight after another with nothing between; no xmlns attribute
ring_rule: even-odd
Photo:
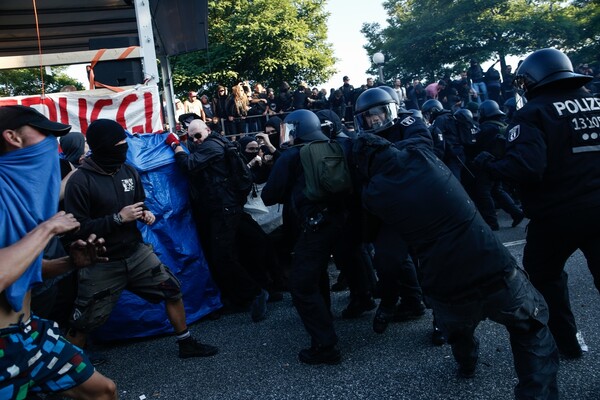
<svg viewBox="0 0 600 400"><path fill-rule="evenodd" d="M81 349L60 336L56 322L32 316L0 329L0 399L21 400L28 392L62 392L94 373Z"/></svg>

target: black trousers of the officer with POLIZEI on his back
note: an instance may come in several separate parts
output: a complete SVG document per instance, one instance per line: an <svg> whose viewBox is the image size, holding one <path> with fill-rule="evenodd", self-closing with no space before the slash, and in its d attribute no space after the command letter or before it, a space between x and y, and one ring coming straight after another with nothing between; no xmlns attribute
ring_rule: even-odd
<svg viewBox="0 0 600 400"><path fill-rule="evenodd" d="M550 310L548 326L558 348L577 343L577 325L569 300L567 259L580 249L600 291L600 209L560 218L533 218L527 226L523 267L544 295Z"/></svg>

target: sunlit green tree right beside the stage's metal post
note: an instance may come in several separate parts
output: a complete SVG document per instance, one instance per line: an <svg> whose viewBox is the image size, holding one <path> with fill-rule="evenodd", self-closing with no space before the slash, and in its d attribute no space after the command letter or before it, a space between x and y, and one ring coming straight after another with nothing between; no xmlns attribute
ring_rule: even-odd
<svg viewBox="0 0 600 400"><path fill-rule="evenodd" d="M208 2L208 49L173 57L176 94L217 83L253 80L317 84L335 59L327 39L325 0Z"/></svg>

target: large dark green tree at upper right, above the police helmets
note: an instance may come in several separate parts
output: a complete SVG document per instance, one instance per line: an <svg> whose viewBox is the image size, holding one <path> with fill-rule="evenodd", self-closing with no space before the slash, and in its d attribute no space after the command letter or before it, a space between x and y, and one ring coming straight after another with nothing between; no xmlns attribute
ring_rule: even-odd
<svg viewBox="0 0 600 400"><path fill-rule="evenodd" d="M365 48L382 51L386 70L399 76L432 80L470 58L504 67L507 55L581 40L576 7L561 0L387 0L384 8L389 26L364 24Z"/></svg>

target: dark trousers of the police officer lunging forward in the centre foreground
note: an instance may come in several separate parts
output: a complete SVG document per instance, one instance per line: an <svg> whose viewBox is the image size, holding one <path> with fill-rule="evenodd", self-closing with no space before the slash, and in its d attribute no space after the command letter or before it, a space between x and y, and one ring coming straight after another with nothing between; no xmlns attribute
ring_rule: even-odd
<svg viewBox="0 0 600 400"><path fill-rule="evenodd" d="M521 270L504 279L500 290L482 290L469 301L430 299L437 322L448 337L455 360L475 365L477 325L486 318L506 326L519 383L517 399L558 399L558 352L546 325L548 308Z"/></svg>

